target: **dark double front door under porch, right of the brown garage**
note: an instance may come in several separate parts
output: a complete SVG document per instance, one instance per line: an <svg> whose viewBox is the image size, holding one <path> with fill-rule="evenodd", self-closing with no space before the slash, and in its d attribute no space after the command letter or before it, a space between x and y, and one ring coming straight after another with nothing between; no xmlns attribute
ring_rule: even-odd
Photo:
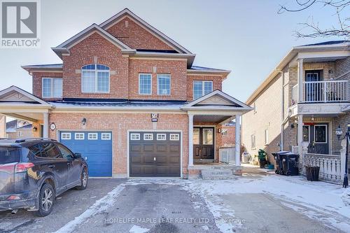
<svg viewBox="0 0 350 233"><path fill-rule="evenodd" d="M193 128L193 159L214 160L214 127Z"/></svg>

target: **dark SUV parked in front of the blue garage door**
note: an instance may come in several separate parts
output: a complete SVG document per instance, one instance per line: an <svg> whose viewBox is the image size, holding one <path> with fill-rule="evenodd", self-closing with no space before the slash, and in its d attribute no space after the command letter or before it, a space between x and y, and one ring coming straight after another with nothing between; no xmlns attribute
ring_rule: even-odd
<svg viewBox="0 0 350 233"><path fill-rule="evenodd" d="M55 197L85 190L87 163L80 153L51 139L0 139L0 211L48 216Z"/></svg>

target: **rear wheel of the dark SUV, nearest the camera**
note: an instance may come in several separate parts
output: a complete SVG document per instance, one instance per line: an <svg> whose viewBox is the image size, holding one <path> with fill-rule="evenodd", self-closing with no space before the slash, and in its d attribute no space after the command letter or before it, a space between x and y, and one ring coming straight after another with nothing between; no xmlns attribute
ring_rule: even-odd
<svg viewBox="0 0 350 233"><path fill-rule="evenodd" d="M38 211L36 211L36 216L45 217L48 216L55 203L55 190L52 185L45 183L40 190L39 194L39 206Z"/></svg>

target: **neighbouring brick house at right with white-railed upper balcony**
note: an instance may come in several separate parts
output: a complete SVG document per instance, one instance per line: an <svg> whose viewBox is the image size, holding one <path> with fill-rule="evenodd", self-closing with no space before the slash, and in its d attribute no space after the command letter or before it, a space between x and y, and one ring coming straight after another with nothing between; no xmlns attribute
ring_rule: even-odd
<svg viewBox="0 0 350 233"><path fill-rule="evenodd" d="M350 41L328 41L292 48L246 104L242 143L251 155L264 149L289 150L312 157L321 176L339 181L342 136L350 122ZM344 142L343 142L344 147Z"/></svg>

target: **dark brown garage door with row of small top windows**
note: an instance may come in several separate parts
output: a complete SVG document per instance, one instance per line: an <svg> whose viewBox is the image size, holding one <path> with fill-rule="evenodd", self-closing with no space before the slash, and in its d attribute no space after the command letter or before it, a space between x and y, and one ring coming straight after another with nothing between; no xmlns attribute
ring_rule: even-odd
<svg viewBox="0 0 350 233"><path fill-rule="evenodd" d="M130 176L180 176L179 132L130 132Z"/></svg>

